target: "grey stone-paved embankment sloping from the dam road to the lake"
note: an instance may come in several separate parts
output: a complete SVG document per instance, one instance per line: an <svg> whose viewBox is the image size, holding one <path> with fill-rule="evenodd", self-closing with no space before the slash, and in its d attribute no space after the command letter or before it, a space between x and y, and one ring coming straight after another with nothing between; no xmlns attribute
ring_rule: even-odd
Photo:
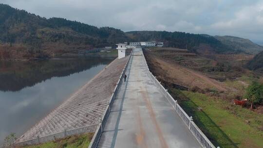
<svg viewBox="0 0 263 148"><path fill-rule="evenodd" d="M17 142L97 124L103 115L128 57L115 59L106 69L26 131ZM69 84L70 85L70 84Z"/></svg>

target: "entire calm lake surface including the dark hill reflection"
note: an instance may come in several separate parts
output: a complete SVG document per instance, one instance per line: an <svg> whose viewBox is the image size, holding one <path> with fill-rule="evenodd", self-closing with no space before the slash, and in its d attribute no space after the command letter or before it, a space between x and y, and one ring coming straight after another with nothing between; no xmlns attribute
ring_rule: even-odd
<svg viewBox="0 0 263 148"><path fill-rule="evenodd" d="M0 145L19 137L98 74L113 58L0 62Z"/></svg>

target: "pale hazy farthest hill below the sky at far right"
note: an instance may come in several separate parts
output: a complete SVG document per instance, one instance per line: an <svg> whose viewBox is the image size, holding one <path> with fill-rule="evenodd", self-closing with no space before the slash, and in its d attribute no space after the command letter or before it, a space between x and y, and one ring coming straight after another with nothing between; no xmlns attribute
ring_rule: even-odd
<svg viewBox="0 0 263 148"><path fill-rule="evenodd" d="M215 38L234 50L241 50L249 54L258 54L263 51L263 46L255 44L249 39L232 36L215 36Z"/></svg>

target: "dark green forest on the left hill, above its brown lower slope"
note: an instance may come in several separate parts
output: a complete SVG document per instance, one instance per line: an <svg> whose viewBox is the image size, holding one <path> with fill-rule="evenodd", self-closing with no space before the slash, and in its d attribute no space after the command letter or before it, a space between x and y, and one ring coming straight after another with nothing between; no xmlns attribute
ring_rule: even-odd
<svg viewBox="0 0 263 148"><path fill-rule="evenodd" d="M24 10L0 4L0 39L3 42L30 42L28 40L34 42L34 39L40 42L41 39L44 39L41 35L45 34L45 31L47 32L47 30L43 29L65 30L65 32L74 31L75 33L69 34L69 37L78 35L84 38L99 38L99 40L97 40L98 42L90 42L94 45L98 45L98 43L113 44L116 39L127 40L125 34L119 29L111 27L97 28L95 26L61 18L46 19L36 16L35 14L30 14ZM56 38L51 41L67 38L61 36L59 33L54 33L50 36ZM115 39L114 37L117 38Z"/></svg>

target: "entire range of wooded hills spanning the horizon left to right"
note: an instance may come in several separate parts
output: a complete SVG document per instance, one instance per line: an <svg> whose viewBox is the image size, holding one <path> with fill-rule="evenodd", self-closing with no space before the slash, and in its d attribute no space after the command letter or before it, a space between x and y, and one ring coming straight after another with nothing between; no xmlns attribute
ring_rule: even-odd
<svg viewBox="0 0 263 148"><path fill-rule="evenodd" d="M95 27L62 18L46 19L35 14L0 4L0 60L43 58L53 54L77 53L94 47L114 46L124 41L160 40L170 47L202 52L236 52L239 47L260 49L252 42L228 41L226 37L167 31L132 31L124 33L112 27ZM240 39L239 39L240 40ZM242 40L242 39L241 39ZM238 44L238 45L233 45ZM249 45L246 45L249 44ZM256 49L256 50L255 50ZM242 50L242 49L240 49ZM259 50L258 50L259 51Z"/></svg>

